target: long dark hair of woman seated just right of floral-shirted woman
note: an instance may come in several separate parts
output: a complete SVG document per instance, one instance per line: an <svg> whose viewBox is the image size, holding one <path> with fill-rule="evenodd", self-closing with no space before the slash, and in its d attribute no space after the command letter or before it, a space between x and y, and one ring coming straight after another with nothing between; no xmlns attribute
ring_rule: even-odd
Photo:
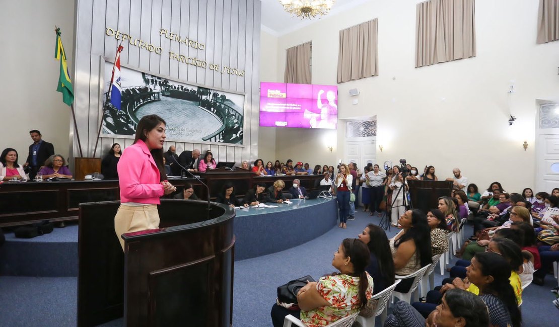
<svg viewBox="0 0 559 327"><path fill-rule="evenodd" d="M389 285L394 284L395 275L394 272L394 259L392 258L392 252L390 252L390 243L385 231L375 224L368 224L369 229L369 243L367 247L369 252L374 254L378 261L378 271L386 277Z"/></svg>

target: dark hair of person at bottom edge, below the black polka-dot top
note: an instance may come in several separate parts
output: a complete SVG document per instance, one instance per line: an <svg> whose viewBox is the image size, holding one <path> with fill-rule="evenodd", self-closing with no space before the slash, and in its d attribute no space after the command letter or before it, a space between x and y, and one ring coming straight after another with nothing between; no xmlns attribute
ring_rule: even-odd
<svg viewBox="0 0 559 327"><path fill-rule="evenodd" d="M489 326L487 305L479 296L453 288L444 293L444 300L447 301L448 309L454 318L464 318L466 326Z"/></svg>

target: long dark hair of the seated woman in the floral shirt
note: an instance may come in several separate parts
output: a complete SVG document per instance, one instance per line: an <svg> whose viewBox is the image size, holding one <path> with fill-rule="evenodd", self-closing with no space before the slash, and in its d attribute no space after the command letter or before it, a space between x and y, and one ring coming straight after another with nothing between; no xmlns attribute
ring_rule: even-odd
<svg viewBox="0 0 559 327"><path fill-rule="evenodd" d="M342 241L345 257L349 257L349 262L353 264L353 273L359 277L359 307L363 308L367 305L367 288L369 281L367 280L367 271L365 268L369 265L369 249L365 243L357 238L346 238Z"/></svg>

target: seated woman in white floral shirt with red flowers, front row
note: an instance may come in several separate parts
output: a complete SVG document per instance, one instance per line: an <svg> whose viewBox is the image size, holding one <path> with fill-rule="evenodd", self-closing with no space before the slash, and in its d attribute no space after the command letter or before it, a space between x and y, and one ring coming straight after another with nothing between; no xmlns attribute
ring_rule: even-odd
<svg viewBox="0 0 559 327"><path fill-rule="evenodd" d="M365 270L368 263L367 246L355 238L344 239L332 260L332 266L339 273L326 275L302 287L297 294L301 311L274 304L273 326L283 326L289 314L301 319L306 326L325 326L359 312L373 293L373 278Z"/></svg>

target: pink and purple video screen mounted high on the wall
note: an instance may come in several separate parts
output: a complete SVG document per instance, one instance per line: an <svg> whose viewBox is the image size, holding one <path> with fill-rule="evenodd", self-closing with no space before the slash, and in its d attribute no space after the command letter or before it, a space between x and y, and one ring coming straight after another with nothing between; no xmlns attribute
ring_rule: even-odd
<svg viewBox="0 0 559 327"><path fill-rule="evenodd" d="M260 126L328 128L338 125L338 86L260 83Z"/></svg>

